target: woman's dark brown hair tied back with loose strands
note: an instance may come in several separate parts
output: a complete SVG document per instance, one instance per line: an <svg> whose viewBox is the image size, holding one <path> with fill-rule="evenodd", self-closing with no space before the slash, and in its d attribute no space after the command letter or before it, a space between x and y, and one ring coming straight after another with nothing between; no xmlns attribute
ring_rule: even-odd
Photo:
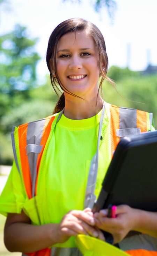
<svg viewBox="0 0 157 256"><path fill-rule="evenodd" d="M108 62L107 53L106 53L105 40L100 30L93 23L87 20L84 20L81 18L68 19L61 22L53 30L52 34L50 35L50 39L48 41L47 54L46 54L46 62L47 62L47 67L50 71L51 84L55 90L55 93L58 96L59 96L58 92L61 92L61 89L62 89L63 91L66 90L66 92L68 92L69 94L74 95L75 97L78 97L72 92L69 92L61 84L59 77L57 75L57 69L56 69L56 52L57 52L57 45L58 45L59 39L63 35L69 32L76 33L76 31L85 31L88 35L91 36L91 38L95 41L97 45L98 53L99 53L98 68L101 76L99 89L102 87L102 83L104 79L108 80L110 83L113 84L113 81L106 76L109 62ZM105 68L105 70L103 70L102 68ZM53 74L55 74L55 77L53 76ZM53 114L60 112L64 107L65 107L65 97L63 93L55 106Z"/></svg>

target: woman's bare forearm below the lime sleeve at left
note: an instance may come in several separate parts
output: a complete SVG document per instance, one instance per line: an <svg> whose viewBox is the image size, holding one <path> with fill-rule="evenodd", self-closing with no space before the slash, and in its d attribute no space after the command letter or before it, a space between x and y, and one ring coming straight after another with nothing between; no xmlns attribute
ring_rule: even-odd
<svg viewBox="0 0 157 256"><path fill-rule="evenodd" d="M58 224L32 225L13 223L5 230L5 245L9 251L34 252L57 243Z"/></svg>

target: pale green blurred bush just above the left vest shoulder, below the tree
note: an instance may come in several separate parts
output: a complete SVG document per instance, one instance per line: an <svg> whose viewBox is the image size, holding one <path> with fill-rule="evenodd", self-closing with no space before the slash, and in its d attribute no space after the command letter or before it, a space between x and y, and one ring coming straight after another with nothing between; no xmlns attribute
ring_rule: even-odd
<svg viewBox="0 0 157 256"><path fill-rule="evenodd" d="M10 109L7 115L2 117L1 129L4 133L10 133L13 125L19 126L20 124L52 115L56 96L52 94L50 88L47 89L47 86L48 85L33 89L28 101L23 101L21 105L16 105L14 108Z"/></svg>

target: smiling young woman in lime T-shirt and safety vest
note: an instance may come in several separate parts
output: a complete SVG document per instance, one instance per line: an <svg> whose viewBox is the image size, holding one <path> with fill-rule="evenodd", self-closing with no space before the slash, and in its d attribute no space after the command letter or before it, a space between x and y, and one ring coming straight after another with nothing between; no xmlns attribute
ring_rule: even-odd
<svg viewBox="0 0 157 256"><path fill-rule="evenodd" d="M63 94L52 116L12 131L15 161L0 197L7 249L32 256L81 255L75 236L105 240L105 230L130 255L157 255L157 213L125 205L117 207L114 219L105 209L91 212L120 140L116 129L150 130L152 114L127 109L126 118L125 108L103 101L102 82L112 81L106 76L104 38L89 21L69 19L54 29L47 66L52 86ZM138 235L126 237L130 230Z"/></svg>

